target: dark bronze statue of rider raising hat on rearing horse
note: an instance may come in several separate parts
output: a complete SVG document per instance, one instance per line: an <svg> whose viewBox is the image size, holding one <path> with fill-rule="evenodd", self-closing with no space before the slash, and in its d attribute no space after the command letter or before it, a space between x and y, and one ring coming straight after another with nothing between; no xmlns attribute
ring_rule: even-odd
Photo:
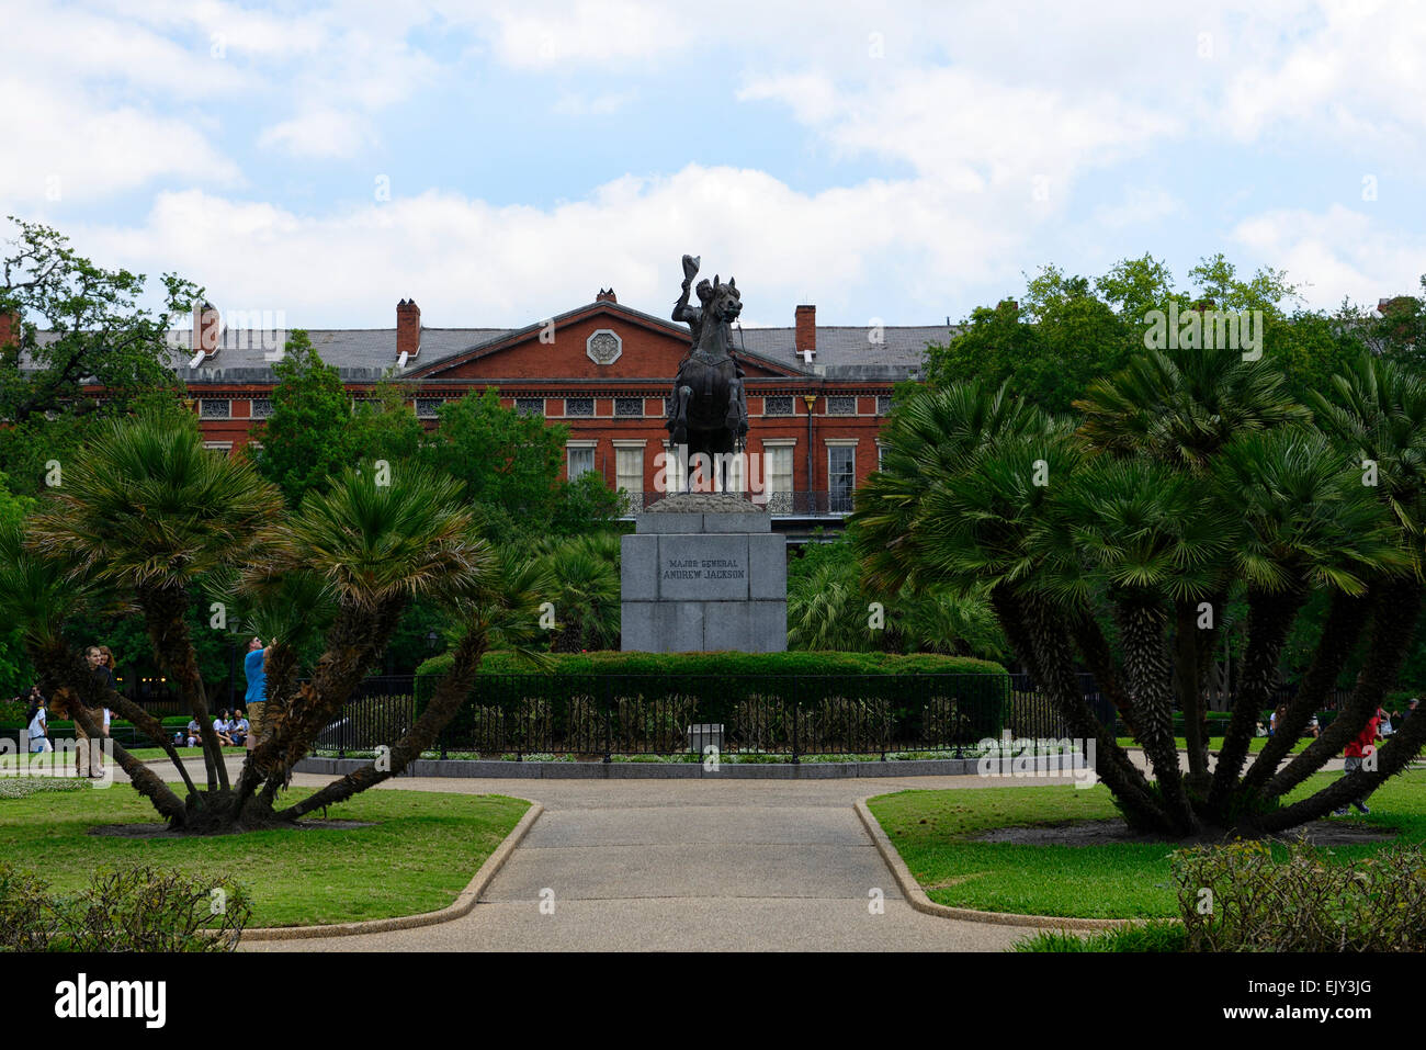
<svg viewBox="0 0 1426 1050"><path fill-rule="evenodd" d="M714 277L699 281L700 305L689 305L697 268L697 258L683 257L683 295L673 307L673 320L687 322L693 347L679 364L665 422L674 448L687 448L690 464L699 454L716 462L717 454L740 452L747 437L743 368L733 352L733 321L743 311L743 297L736 278L720 284Z"/></svg>

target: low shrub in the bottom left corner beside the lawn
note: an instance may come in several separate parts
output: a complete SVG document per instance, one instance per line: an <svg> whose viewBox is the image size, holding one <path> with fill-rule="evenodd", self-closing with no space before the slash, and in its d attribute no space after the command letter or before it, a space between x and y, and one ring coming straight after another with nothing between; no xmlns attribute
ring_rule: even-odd
<svg viewBox="0 0 1426 1050"><path fill-rule="evenodd" d="M0 949L27 952L230 952L252 916L225 876L135 865L101 867L80 893L0 863Z"/></svg>

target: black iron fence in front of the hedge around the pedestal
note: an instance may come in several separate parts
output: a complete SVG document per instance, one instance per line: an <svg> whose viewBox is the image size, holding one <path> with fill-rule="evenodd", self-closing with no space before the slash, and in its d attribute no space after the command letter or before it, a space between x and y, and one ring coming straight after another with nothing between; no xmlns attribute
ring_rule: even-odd
<svg viewBox="0 0 1426 1050"><path fill-rule="evenodd" d="M1092 685L1092 682L1091 682ZM442 756L925 752L963 756L985 739L1064 739L1050 702L1011 675L482 675L441 733ZM364 683L318 738L345 756L394 743L419 715L435 679ZM1098 710L1098 692L1087 698Z"/></svg>

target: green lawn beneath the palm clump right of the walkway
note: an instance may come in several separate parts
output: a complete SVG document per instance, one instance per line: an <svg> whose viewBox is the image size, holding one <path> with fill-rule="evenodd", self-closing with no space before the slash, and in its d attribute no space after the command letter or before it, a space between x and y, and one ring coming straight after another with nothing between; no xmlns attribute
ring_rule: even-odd
<svg viewBox="0 0 1426 1050"><path fill-rule="evenodd" d="M1288 796L1302 797L1339 773L1318 773ZM1426 840L1426 772L1387 780L1368 800L1368 817L1335 817L1396 827ZM911 875L940 904L985 912L1134 919L1176 914L1168 843L1030 846L967 842L991 827L1062 825L1118 817L1107 788L975 788L881 795L867 806ZM1342 860L1385 843L1333 846Z"/></svg>

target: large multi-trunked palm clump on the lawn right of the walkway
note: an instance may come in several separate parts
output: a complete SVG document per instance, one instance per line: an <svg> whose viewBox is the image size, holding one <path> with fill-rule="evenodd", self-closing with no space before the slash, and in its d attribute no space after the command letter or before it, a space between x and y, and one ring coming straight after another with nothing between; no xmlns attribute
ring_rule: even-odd
<svg viewBox="0 0 1426 1050"><path fill-rule="evenodd" d="M1222 291L1224 274L1214 280ZM883 583L990 589L1017 656L1071 732L1095 740L1099 776L1132 826L1282 830L1369 793L1426 745L1426 720L1415 730L1407 720L1375 770L1279 802L1385 699L1423 601L1426 385L1363 357L1332 399L1316 401L1315 427L1271 360L1202 350L1154 352L1091 384L1074 431L984 384L928 389L893 412L883 471L853 515L858 551ZM1363 484L1363 461L1379 484ZM1198 722L1202 669L1235 591L1248 612L1224 748L1208 778L1194 760L1202 739L1189 732L1181 778L1172 709L1185 710L1186 728ZM1292 718L1245 772L1313 591L1330 595L1329 609ZM1350 700L1278 770L1359 639ZM1144 745L1152 780L1088 709L1074 675L1081 661Z"/></svg>

